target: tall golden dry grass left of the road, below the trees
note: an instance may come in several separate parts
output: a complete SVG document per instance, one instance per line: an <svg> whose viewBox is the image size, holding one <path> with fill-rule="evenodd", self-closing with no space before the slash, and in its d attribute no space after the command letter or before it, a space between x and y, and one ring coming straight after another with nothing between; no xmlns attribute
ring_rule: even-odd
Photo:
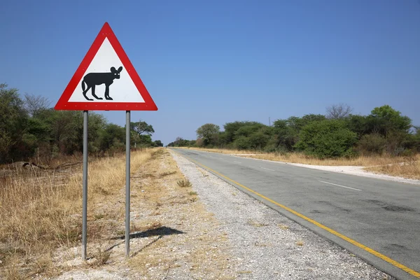
<svg viewBox="0 0 420 280"><path fill-rule="evenodd" d="M150 157L151 151L132 153L132 170ZM112 230L112 225L101 221L123 211L120 207L97 212L95 205L124 186L125 156L94 159L88 169L87 233L95 239ZM82 167L56 171L15 168L7 173L0 181L0 278L55 274L52 253L81 239ZM99 264L106 258L106 253L99 252Z"/></svg>

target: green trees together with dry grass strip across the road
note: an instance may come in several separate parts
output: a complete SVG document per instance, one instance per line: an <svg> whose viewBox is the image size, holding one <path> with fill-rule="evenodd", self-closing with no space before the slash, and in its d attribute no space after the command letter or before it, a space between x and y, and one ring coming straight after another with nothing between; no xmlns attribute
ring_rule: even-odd
<svg viewBox="0 0 420 280"><path fill-rule="evenodd" d="M367 116L352 111L337 104L325 115L291 116L272 125L235 121L225 123L223 131L207 123L197 129L196 140L177 138L168 146L309 165L365 166L420 179L420 127L388 105Z"/></svg>

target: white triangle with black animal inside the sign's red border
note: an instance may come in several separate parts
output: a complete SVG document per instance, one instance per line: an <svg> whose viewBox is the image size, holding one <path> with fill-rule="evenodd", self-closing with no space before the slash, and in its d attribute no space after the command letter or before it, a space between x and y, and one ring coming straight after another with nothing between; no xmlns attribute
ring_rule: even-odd
<svg viewBox="0 0 420 280"><path fill-rule="evenodd" d="M144 99L105 38L69 102L144 102Z"/></svg>

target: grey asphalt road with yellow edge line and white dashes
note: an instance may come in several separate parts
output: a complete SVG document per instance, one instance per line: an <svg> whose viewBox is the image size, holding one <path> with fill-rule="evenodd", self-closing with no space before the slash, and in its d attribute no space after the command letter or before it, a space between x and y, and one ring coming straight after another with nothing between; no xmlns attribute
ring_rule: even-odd
<svg viewBox="0 0 420 280"><path fill-rule="evenodd" d="M420 186L218 153L174 151L397 279L420 278Z"/></svg>

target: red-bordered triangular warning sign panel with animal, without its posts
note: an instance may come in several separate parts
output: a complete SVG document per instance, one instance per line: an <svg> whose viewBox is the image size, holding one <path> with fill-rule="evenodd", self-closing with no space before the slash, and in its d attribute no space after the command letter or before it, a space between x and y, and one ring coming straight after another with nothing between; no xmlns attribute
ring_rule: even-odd
<svg viewBox="0 0 420 280"><path fill-rule="evenodd" d="M156 111L158 107L105 22L54 109Z"/></svg>

